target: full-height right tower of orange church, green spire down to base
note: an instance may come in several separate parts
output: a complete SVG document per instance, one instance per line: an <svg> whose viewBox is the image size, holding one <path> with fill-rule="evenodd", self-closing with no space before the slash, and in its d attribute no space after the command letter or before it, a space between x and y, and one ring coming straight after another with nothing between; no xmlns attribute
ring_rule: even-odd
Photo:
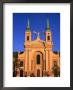
<svg viewBox="0 0 73 90"><path fill-rule="evenodd" d="M52 66L52 35L50 31L49 20L47 18L46 22L46 41L45 41L45 63L46 63L46 71L49 72ZM48 57L48 58L47 58ZM50 73L50 72L49 72Z"/></svg>

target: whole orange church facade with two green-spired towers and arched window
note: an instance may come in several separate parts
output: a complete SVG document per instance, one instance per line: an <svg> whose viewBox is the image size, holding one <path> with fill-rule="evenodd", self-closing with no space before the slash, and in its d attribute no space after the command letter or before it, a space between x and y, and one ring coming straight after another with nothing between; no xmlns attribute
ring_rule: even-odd
<svg viewBox="0 0 73 90"><path fill-rule="evenodd" d="M32 33L28 20L28 25L25 32L24 52L18 52L18 62L20 62L20 68L17 68L17 75L20 76L54 76L53 67L58 66L60 72L60 54L54 53L52 33L50 30L49 22L47 20L45 30L45 40L40 39L39 32L35 40L31 39Z"/></svg>

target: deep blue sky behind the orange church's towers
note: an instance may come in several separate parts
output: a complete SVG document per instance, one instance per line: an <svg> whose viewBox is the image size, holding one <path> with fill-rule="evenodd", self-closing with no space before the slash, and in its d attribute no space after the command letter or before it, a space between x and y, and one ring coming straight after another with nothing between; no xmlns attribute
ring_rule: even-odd
<svg viewBox="0 0 73 90"><path fill-rule="evenodd" d="M25 31L28 18L30 29L40 32L40 38L45 40L46 22L49 20L52 32L53 51L60 51L60 14L59 13L13 13L13 51L24 51ZM32 34L35 40L36 34Z"/></svg>

